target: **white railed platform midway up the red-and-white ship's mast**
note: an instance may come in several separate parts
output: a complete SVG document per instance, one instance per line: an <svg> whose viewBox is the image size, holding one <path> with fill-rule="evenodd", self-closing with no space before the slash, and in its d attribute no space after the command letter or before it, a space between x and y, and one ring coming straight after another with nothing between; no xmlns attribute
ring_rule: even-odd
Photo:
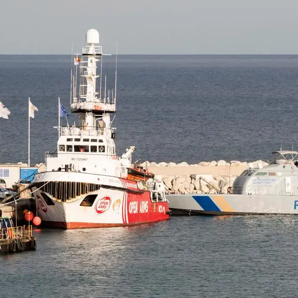
<svg viewBox="0 0 298 298"><path fill-rule="evenodd" d="M80 94L80 97L86 97L86 94ZM116 103L114 98L98 98L95 101L75 101L71 105L72 112L80 110L93 111L116 111Z"/></svg>

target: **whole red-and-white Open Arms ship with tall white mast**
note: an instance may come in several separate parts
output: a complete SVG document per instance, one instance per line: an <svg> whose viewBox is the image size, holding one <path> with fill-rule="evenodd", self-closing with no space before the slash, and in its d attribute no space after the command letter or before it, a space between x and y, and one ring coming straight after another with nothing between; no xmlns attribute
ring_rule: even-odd
<svg viewBox="0 0 298 298"><path fill-rule="evenodd" d="M31 189L42 224L58 228L123 226L167 220L164 185L146 169L134 169L131 146L122 156L115 154L116 82L112 98L101 96L99 33L90 29L79 65L79 86L71 110L79 114L79 126L59 126L57 153L46 153L46 171L35 175ZM117 59L116 59L117 61ZM75 72L76 73L76 72ZM100 69L102 74L102 69ZM117 77L117 62L116 74ZM100 90L96 91L96 78ZM76 78L73 80L76 82ZM109 94L109 92L108 92ZM137 174L136 174L137 172ZM142 175L143 173L143 175Z"/></svg>

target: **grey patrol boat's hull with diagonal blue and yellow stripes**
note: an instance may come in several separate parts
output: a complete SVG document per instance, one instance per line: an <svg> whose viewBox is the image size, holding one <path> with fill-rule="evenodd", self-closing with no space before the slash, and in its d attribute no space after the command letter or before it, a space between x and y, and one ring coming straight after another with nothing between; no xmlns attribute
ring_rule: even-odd
<svg viewBox="0 0 298 298"><path fill-rule="evenodd" d="M298 196L166 195L172 215L298 214Z"/></svg>

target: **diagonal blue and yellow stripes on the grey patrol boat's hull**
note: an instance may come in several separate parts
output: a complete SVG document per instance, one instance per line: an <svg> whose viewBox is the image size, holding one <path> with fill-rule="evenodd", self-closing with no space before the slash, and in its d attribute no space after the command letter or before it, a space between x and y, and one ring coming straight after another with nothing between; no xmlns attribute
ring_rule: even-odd
<svg viewBox="0 0 298 298"><path fill-rule="evenodd" d="M195 201L207 212L233 212L223 196L193 196Z"/></svg>

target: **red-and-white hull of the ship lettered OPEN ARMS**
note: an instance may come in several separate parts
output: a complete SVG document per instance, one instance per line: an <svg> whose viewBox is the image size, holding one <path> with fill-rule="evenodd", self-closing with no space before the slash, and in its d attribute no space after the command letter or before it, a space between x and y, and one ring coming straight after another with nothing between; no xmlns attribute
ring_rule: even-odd
<svg viewBox="0 0 298 298"><path fill-rule="evenodd" d="M54 177L53 177L54 176ZM56 180L63 191L70 193L65 185L71 183L91 181L98 188L87 191L71 200L62 201L55 197L46 186L48 181ZM36 200L37 213L42 225L51 228L93 228L144 224L167 220L169 218L168 203L166 201L153 202L150 191L139 189L137 182L118 177L100 176L83 173L65 173L57 175L55 172L36 176L37 183L33 183L32 190ZM69 183L69 184L67 184ZM95 184L97 183L97 184ZM34 187L35 185L35 187ZM94 187L93 187L94 188ZM62 192L60 192L62 196Z"/></svg>

